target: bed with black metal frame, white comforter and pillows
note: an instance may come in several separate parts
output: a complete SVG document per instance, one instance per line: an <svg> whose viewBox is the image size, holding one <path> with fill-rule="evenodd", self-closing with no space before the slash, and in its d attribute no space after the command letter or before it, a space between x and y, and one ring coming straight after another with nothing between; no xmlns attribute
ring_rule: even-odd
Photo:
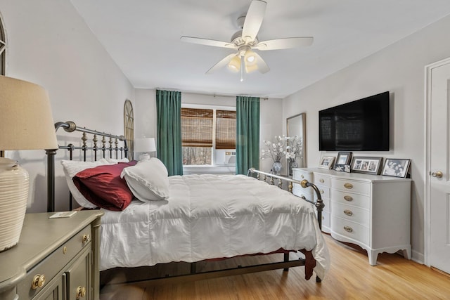
<svg viewBox="0 0 450 300"><path fill-rule="evenodd" d="M250 169L248 176L168 177L159 159L129 162L123 136L80 128L73 122L58 122L55 127L56 131L63 128L67 132L82 132L81 145L59 146L70 152L70 159L61 164L71 197L77 200L81 193L84 200L77 200L78 204L104 211L100 230L101 277L118 269L138 270L174 262L188 263L188 274L128 278L119 283L146 285L180 276L183 281L187 277L198 280L276 268L288 270L293 266L304 266L307 280L313 270L318 282L326 275L330 261L320 229L323 202L314 184L255 169ZM87 143L88 133L94 136L93 145ZM99 136L101 145L97 145ZM82 162L72 160L75 150L84 153ZM53 211L56 150L48 150L47 155L48 209ZM281 189L283 181L288 181L290 191L293 183L313 188L318 201L305 201ZM282 254L283 259L204 272L196 268L199 262L274 253ZM298 254L294 259L293 253Z"/></svg>

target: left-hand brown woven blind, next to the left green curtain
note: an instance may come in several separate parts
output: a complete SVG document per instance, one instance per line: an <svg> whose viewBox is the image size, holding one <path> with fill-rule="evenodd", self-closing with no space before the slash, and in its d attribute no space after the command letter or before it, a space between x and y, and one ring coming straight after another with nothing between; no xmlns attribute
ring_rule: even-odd
<svg viewBox="0 0 450 300"><path fill-rule="evenodd" d="M212 147L213 110L181 108L181 141L184 147Z"/></svg>

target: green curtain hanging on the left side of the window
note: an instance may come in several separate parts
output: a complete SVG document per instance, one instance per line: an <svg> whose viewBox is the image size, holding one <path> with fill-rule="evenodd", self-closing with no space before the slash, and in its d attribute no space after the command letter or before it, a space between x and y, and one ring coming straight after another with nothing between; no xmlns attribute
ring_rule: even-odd
<svg viewBox="0 0 450 300"><path fill-rule="evenodd" d="M169 176L183 175L181 92L156 90L156 150Z"/></svg>

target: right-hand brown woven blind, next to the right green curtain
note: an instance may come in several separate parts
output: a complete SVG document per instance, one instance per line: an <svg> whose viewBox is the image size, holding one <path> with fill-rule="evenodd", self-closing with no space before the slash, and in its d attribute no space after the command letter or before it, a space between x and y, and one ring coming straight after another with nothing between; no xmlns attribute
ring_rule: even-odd
<svg viewBox="0 0 450 300"><path fill-rule="evenodd" d="M236 111L216 111L216 149L236 149Z"/></svg>

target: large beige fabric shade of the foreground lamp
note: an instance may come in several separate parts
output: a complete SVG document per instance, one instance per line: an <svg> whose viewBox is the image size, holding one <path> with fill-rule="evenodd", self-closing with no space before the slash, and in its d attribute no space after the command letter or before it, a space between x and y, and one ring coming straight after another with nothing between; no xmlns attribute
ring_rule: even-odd
<svg viewBox="0 0 450 300"><path fill-rule="evenodd" d="M0 150L58 149L49 95L37 84L0 76Z"/></svg>

